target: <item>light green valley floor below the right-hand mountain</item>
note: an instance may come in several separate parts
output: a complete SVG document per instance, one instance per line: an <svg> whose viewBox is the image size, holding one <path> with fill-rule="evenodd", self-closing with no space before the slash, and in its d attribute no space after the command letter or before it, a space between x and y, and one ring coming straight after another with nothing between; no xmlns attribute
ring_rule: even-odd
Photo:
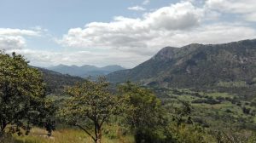
<svg viewBox="0 0 256 143"><path fill-rule="evenodd" d="M179 100L191 103L191 117L195 123L213 129L256 129L254 100L243 100L239 95L199 92L192 89L157 89L163 106L180 106Z"/></svg>

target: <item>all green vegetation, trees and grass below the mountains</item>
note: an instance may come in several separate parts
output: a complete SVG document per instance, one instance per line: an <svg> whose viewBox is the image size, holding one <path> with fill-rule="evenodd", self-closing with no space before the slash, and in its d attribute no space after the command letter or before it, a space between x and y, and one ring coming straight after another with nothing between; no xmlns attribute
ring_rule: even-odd
<svg viewBox="0 0 256 143"><path fill-rule="evenodd" d="M0 142L256 142L254 83L184 89L65 77L55 89L21 55L0 58Z"/></svg>

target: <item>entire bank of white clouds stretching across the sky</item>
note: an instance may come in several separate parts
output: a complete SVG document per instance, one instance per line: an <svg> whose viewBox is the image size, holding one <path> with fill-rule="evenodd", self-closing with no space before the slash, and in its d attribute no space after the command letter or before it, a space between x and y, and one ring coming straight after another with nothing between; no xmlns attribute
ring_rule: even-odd
<svg viewBox="0 0 256 143"><path fill-rule="evenodd" d="M184 0L138 18L117 16L111 22L91 22L84 27L69 29L57 39L57 43L63 46L60 52L27 49L26 37L47 32L40 26L32 30L0 29L0 49L4 47L9 52L15 49L34 66L49 66L51 63L132 67L166 46L256 38L255 28L247 25L247 21L221 19L223 13L232 13L246 20L256 20L253 1L246 1L251 6L243 5L239 0L207 0L201 6L198 6L198 1Z"/></svg>

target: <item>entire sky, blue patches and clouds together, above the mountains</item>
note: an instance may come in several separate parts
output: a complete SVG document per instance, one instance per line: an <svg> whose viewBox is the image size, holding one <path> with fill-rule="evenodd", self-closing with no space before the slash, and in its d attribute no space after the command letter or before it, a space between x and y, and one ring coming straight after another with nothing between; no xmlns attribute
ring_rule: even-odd
<svg viewBox="0 0 256 143"><path fill-rule="evenodd" d="M137 66L166 46L256 38L255 0L0 0L0 50L32 66Z"/></svg>

